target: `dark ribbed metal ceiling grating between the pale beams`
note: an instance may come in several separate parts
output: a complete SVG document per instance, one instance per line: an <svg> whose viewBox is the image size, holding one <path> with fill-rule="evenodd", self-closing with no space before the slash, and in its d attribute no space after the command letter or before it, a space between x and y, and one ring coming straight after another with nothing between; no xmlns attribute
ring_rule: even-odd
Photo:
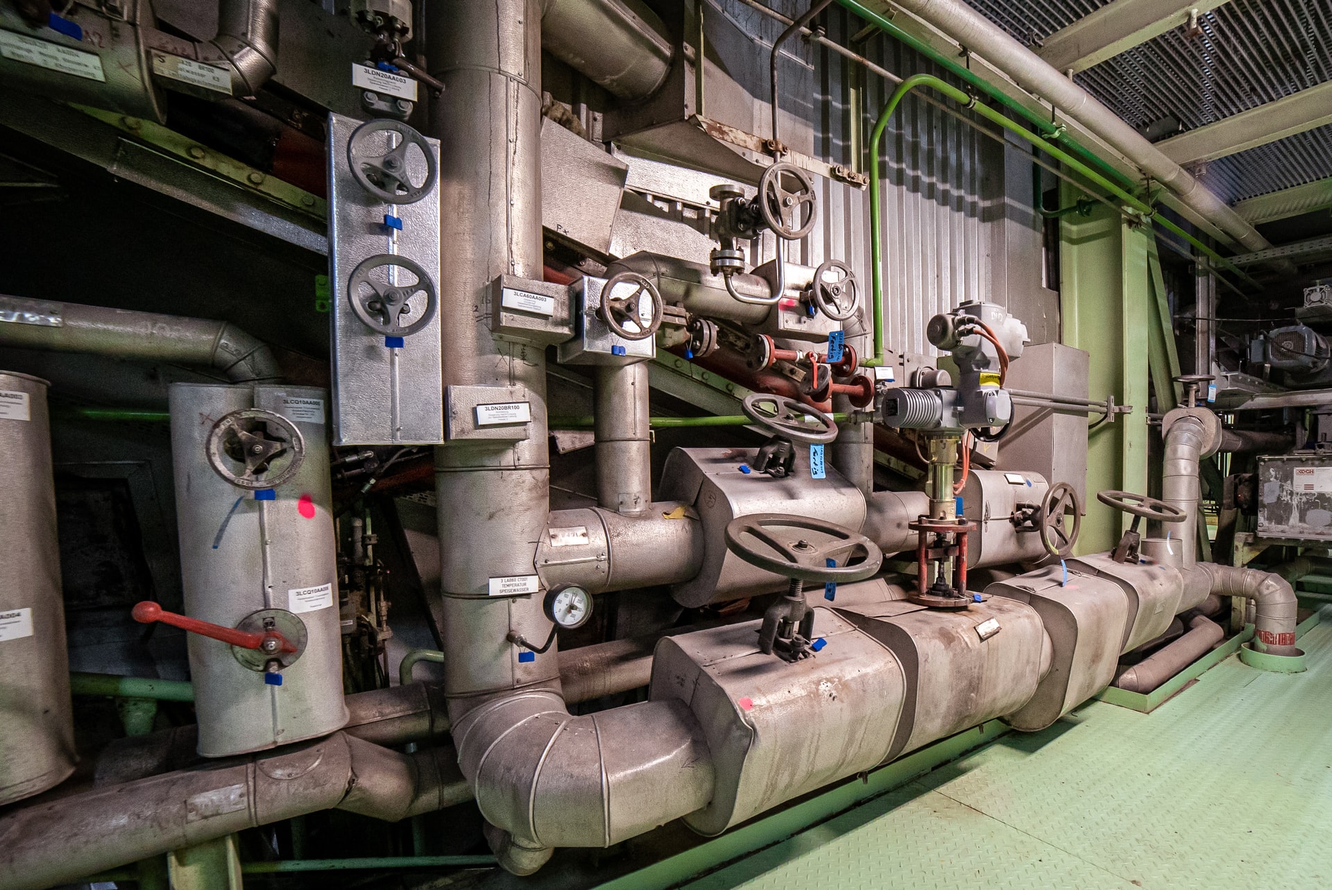
<svg viewBox="0 0 1332 890"><path fill-rule="evenodd" d="M967 0L1023 43L1048 37L1108 0ZM1328 0L1232 0L1075 75L1132 127L1173 115L1184 129L1332 80ZM1320 128L1212 161L1204 181L1228 201L1332 176L1332 133Z"/></svg>

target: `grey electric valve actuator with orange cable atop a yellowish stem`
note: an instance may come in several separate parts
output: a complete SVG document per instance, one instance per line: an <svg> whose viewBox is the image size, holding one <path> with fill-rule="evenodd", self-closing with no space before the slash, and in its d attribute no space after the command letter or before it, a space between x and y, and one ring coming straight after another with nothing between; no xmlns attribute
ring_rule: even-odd
<svg viewBox="0 0 1332 890"><path fill-rule="evenodd" d="M886 426L926 430L1003 426L1012 420L1012 398L1003 389L1008 362L1022 356L1027 326L992 302L963 302L930 320L926 336L958 366L954 386L900 386L878 400Z"/></svg>

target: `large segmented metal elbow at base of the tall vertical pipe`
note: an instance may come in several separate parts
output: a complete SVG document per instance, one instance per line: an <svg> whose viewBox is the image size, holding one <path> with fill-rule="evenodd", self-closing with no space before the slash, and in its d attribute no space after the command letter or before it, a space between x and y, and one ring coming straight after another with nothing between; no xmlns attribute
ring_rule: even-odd
<svg viewBox="0 0 1332 890"><path fill-rule="evenodd" d="M675 699L573 717L557 691L522 691L456 717L453 738L481 814L507 833L492 839L511 871L539 867L541 850L610 846L713 797L702 729Z"/></svg>

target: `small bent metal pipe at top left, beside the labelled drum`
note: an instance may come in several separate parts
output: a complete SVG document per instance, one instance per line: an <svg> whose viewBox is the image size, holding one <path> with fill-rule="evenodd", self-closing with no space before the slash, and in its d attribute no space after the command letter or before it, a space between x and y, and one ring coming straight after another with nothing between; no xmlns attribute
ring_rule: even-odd
<svg viewBox="0 0 1332 890"><path fill-rule="evenodd" d="M225 68L232 77L230 95L253 96L277 73L277 0L221 0L212 40L184 40L145 28L144 43L149 49Z"/></svg>

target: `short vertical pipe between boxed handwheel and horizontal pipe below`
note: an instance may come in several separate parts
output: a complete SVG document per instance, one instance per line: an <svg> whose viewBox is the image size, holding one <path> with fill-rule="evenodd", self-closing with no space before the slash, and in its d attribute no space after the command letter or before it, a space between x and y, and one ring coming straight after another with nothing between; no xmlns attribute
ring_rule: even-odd
<svg viewBox="0 0 1332 890"><path fill-rule="evenodd" d="M646 362L597 368L597 502L625 516L643 516L653 500L647 389Z"/></svg>

